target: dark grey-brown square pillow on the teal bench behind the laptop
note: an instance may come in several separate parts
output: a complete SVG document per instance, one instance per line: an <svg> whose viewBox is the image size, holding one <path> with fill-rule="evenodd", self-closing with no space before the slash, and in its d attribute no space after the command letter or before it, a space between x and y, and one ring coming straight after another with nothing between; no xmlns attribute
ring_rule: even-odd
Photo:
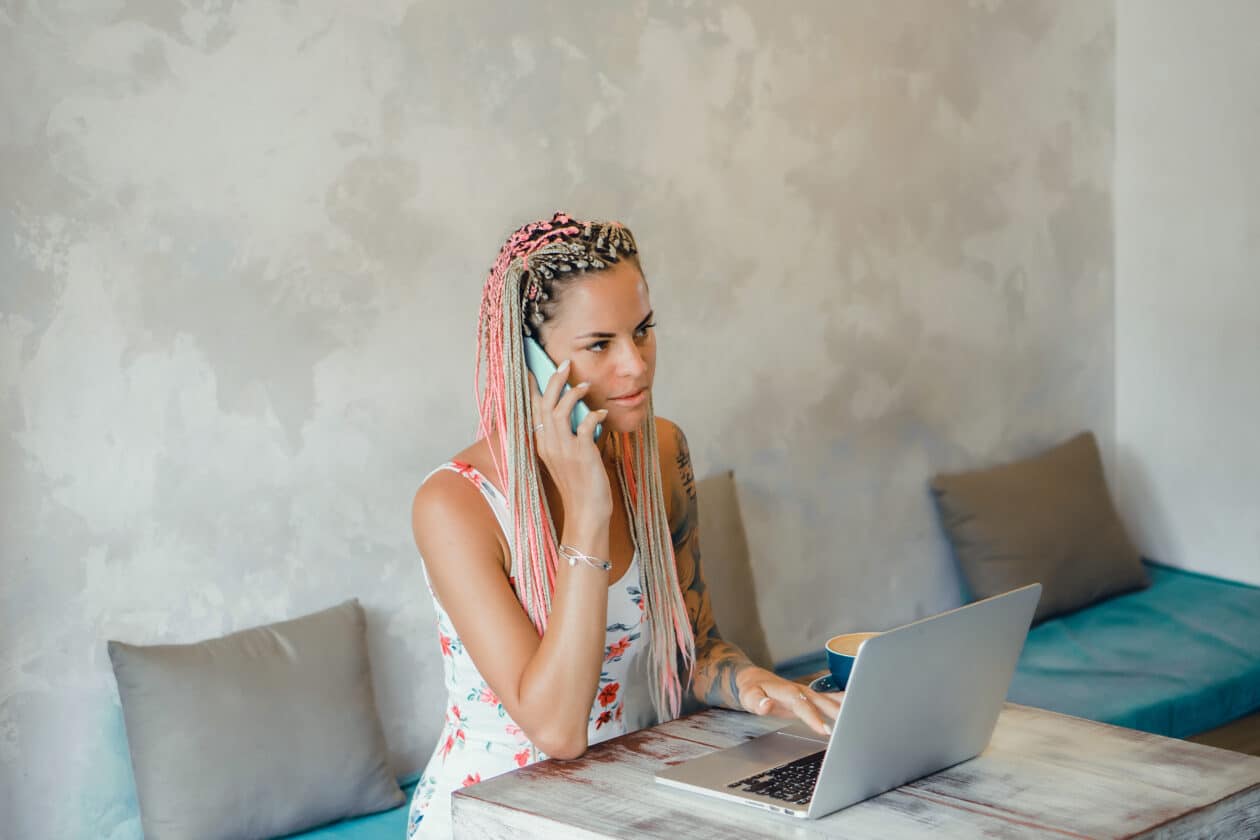
<svg viewBox="0 0 1260 840"><path fill-rule="evenodd" d="M1149 586L1091 432L1023 461L939 475L931 490L975 598L1040 582L1036 623Z"/></svg>

